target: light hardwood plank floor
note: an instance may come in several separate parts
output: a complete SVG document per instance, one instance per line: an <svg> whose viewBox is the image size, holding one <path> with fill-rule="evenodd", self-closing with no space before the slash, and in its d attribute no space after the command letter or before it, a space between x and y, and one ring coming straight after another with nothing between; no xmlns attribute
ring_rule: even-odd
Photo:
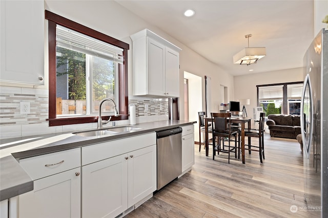
<svg viewBox="0 0 328 218"><path fill-rule="evenodd" d="M257 143L252 138L252 143ZM195 144L195 165L126 217L315 217L302 210L303 156L293 139L265 134L265 160L228 154L212 160ZM291 212L291 206L297 212Z"/></svg>

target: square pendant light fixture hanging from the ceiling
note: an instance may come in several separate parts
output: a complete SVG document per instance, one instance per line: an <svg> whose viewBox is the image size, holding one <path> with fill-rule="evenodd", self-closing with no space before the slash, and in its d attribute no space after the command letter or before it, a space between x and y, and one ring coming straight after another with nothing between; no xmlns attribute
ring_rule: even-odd
<svg viewBox="0 0 328 218"><path fill-rule="evenodd" d="M245 47L243 50L233 56L235 64L256 64L258 59L263 58L266 55L265 47L250 47L250 37L252 37L252 34L245 35L245 38L248 39L248 47Z"/></svg>

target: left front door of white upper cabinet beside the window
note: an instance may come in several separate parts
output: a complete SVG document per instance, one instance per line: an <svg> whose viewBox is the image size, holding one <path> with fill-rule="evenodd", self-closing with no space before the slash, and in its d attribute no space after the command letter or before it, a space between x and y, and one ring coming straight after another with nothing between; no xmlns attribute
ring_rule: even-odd
<svg viewBox="0 0 328 218"><path fill-rule="evenodd" d="M147 94L165 95L165 46L147 37Z"/></svg>

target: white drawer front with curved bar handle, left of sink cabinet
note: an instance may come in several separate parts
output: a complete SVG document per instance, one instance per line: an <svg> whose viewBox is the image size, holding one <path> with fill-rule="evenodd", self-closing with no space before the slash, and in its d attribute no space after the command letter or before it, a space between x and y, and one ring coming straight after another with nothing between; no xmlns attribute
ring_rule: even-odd
<svg viewBox="0 0 328 218"><path fill-rule="evenodd" d="M28 175L37 180L81 165L81 149L70 149L19 160Z"/></svg>

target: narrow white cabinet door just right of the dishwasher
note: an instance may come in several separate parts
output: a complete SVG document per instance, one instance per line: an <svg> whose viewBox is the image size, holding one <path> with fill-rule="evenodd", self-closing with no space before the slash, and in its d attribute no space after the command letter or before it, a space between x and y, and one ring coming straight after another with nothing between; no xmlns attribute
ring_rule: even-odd
<svg viewBox="0 0 328 218"><path fill-rule="evenodd" d="M182 172L195 163L194 134L182 136Z"/></svg>

